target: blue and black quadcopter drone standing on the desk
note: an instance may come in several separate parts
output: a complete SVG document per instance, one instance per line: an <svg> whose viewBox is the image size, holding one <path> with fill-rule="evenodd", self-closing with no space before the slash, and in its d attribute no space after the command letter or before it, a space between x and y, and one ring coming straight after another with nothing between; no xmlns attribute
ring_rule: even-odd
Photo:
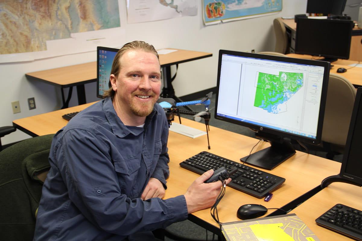
<svg viewBox="0 0 362 241"><path fill-rule="evenodd" d="M178 116L178 120L180 121L180 124L181 124L180 114L191 115L191 116L195 117L195 119L197 117L202 117L205 120L207 144L208 144L207 147L209 148L209 150L210 150L210 142L209 142L210 125L209 125L209 121L210 121L210 117L211 117L210 112L209 112L210 111L210 109L209 109L209 106L210 106L210 98L209 98L209 96L211 97L211 95L212 95L212 92L207 94L201 100L178 102L178 103L176 103L176 101L174 99L172 99L172 98L160 98L159 100L157 100L157 103L159 103L160 106L165 111L169 127L170 127L170 125L172 125L172 121L174 120L175 115ZM190 105L200 105L200 104L205 105L205 111L201 111L201 112L185 111L185 110L182 110L182 109L178 108L180 106L190 106Z"/></svg>

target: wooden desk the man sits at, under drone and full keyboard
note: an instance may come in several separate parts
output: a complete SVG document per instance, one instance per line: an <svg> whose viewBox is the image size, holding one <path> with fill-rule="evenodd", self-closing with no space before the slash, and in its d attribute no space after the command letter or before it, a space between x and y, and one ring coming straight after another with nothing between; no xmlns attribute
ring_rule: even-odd
<svg viewBox="0 0 362 241"><path fill-rule="evenodd" d="M67 124L67 121L62 119L62 115L80 111L91 104L93 103L14 120L13 124L16 128L33 136L55 133ZM184 118L181 119L182 124L184 125L199 130L205 129L205 124L201 122L195 122ZM211 123L212 121L213 120L211 120ZM222 130L214 126L210 126L209 138L211 146L211 150L209 151L211 153L234 161L238 161L240 157L248 155L252 147L258 142L257 139ZM256 146L255 151L268 146L269 143L261 142ZM199 177L198 174L181 168L179 163L201 151L206 151L207 138L206 135L204 135L192 139L184 135L170 132L168 148L171 160L169 163L171 175L167 180L168 189L165 198L184 194L189 185ZM313 167L313 169L310 167ZM227 187L226 194L218 205L220 221L230 222L238 220L236 218L237 209L241 205L247 203L257 203L264 205L267 208L282 207L312 188L320 185L325 177L339 173L340 167L341 163L297 151L296 155L286 160L286 162L279 165L274 170L268 171L274 175L286 178L286 182L282 184L280 188L273 191L274 196L269 202L264 202L263 198L256 198ZM269 211L267 214L270 214L271 212L272 211ZM210 209L190 214L189 219L212 232L220 234L217 224L211 218Z"/></svg>

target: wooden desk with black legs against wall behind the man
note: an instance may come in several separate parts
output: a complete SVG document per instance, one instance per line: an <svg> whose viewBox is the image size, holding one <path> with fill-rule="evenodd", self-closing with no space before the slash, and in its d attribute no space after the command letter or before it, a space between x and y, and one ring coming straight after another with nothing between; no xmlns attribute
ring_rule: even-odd
<svg viewBox="0 0 362 241"><path fill-rule="evenodd" d="M175 49L176 50L176 49ZM163 97L174 98L174 90L171 83L171 65L180 64L192 60L212 56L212 53L190 50L178 50L176 52L160 55L160 64L165 76ZM61 88L63 108L68 108L73 86L77 87L78 103L85 104L84 84L97 81L97 61L65 66L61 68L42 70L25 74L30 80L38 80ZM64 97L64 88L69 87L67 100ZM180 100L178 100L180 102Z"/></svg>

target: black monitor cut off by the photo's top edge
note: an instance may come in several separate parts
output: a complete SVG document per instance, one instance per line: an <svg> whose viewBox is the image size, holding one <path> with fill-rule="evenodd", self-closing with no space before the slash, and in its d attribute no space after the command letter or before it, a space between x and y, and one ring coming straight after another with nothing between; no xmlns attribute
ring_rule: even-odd
<svg viewBox="0 0 362 241"><path fill-rule="evenodd" d="M347 0L308 0L307 13L342 15Z"/></svg>

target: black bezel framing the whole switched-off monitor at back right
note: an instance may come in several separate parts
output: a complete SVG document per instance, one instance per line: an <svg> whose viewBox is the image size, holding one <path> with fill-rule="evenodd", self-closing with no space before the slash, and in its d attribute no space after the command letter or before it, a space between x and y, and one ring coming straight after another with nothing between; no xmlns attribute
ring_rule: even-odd
<svg viewBox="0 0 362 241"><path fill-rule="evenodd" d="M347 22L350 23L351 27L350 27L350 30L349 30L349 33L348 33L348 38L350 39L346 45L346 48L347 48L347 51L348 51L348 56L338 56L338 55L332 55L332 54L321 54L321 53L313 53L313 52L308 52L308 51L300 51L298 50L298 44L300 43L299 41L299 22L300 21L310 21L310 24L313 24L313 22L316 22L316 21L321 21L321 22L345 22L347 24ZM320 57L326 57L326 58L331 58L331 59L349 59L349 55L350 55L350 48L351 48L351 39L352 39L352 29L353 29L353 21L351 20L340 20L340 19L314 19L314 18L300 18L298 19L298 22L296 24L296 32L295 32L295 47L294 47L294 51L295 53L298 53L298 54L303 54L303 55L312 55L312 56L320 56ZM310 36L312 37L313 34L310 33ZM347 52L346 52L347 54Z"/></svg>

